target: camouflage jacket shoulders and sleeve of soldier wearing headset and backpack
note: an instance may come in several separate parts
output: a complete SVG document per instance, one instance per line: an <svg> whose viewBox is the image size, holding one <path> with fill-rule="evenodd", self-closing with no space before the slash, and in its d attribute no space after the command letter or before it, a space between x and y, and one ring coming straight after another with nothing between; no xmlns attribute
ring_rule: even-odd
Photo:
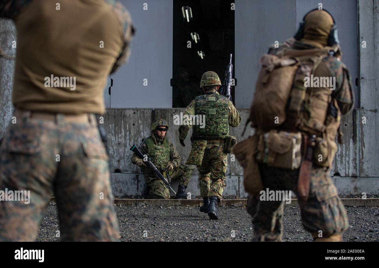
<svg viewBox="0 0 379 268"><path fill-rule="evenodd" d="M312 49L314 46L306 42L296 41L294 38L287 39L279 44L278 48L271 46L268 53L278 55L283 49L292 47L295 49ZM354 107L354 90L351 84L351 76L349 69L337 57L328 55L323 58L321 65L324 65L330 70L330 77L336 78L336 89L332 93L332 98L335 98L341 114L348 114Z"/></svg>

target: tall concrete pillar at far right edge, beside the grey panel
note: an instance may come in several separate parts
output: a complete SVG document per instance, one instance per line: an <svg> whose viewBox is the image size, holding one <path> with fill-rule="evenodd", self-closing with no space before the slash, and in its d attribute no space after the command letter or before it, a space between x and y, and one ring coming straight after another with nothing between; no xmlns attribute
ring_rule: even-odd
<svg viewBox="0 0 379 268"><path fill-rule="evenodd" d="M379 1L358 1L359 109L357 131L359 176L379 176ZM365 42L366 47L363 47ZM366 120L366 121L365 121Z"/></svg>

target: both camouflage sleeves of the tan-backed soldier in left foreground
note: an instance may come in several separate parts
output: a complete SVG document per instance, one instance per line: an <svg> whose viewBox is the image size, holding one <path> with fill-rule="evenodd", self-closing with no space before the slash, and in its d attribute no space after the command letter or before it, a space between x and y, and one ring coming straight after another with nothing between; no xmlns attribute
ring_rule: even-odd
<svg viewBox="0 0 379 268"><path fill-rule="evenodd" d="M133 26L132 18L130 17L128 10L121 4L121 2L117 0L100 1L104 1L113 10L114 15L119 19L122 25L124 34L124 45L111 70L111 73L113 73L121 65L125 64L128 61L130 55L130 42L132 41L133 35L135 33L135 28ZM1 0L0 18L7 18L17 21L21 11L24 8L27 8L27 5L31 2L33 2L33 0Z"/></svg>

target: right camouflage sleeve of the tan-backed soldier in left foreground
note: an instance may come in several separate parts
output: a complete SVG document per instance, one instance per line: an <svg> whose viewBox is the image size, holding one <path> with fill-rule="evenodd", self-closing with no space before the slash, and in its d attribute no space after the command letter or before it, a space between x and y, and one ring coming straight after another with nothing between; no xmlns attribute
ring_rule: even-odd
<svg viewBox="0 0 379 268"><path fill-rule="evenodd" d="M132 42L135 28L129 11L119 1L106 0L106 2L111 5L115 15L120 20L123 33L122 38L124 40L121 52L119 53L119 56L117 57L111 70L111 73L114 73L117 69L119 69L119 67L128 62L130 56L130 43Z"/></svg>

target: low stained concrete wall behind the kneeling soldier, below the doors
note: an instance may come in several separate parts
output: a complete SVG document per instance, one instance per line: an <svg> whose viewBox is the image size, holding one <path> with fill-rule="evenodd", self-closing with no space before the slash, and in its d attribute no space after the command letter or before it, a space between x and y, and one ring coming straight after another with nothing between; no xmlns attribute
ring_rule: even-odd
<svg viewBox="0 0 379 268"><path fill-rule="evenodd" d="M104 115L104 127L108 134L108 146L110 149L110 169L111 172L120 170L121 173L113 173L111 175L111 183L114 195L118 197L123 196L138 196L144 185L144 176L141 169L130 162L132 152L129 150L133 144L139 145L142 139L150 136L150 125L154 118L164 118L170 128L167 132L168 139L174 144L175 148L182 156L182 162L187 160L188 154L191 150L191 137L192 130L188 132L185 139L185 147L179 143L177 136L179 126L173 125L174 115L179 115L184 112L184 109L107 109ZM253 134L251 128L247 128L244 136L242 136L243 128L245 126L247 117L249 116L248 109L238 109L243 121L237 128L230 128L230 135L235 136L238 141L246 139ZM350 120L344 118L344 122ZM357 143L352 141L349 135L343 136L344 145L340 146L338 154L334 160L334 168L330 171L331 175L339 172L341 176L334 176L333 180L337 186L338 193L345 195L360 195L365 192L368 195L379 193L379 178L377 176L354 177L357 175L348 175L350 173L356 174L356 170L349 163L350 159L346 158L344 150L346 146L353 146ZM354 150L352 150L354 151ZM359 161L354 160L354 163ZM243 168L237 161L233 161L231 155L228 155L228 168L227 180L224 196L238 196L240 198L246 197L246 192L243 189ZM199 196L200 190L197 184L198 171L193 171L191 182L188 185L188 192L193 196ZM178 182L172 184L173 189L178 185Z"/></svg>

